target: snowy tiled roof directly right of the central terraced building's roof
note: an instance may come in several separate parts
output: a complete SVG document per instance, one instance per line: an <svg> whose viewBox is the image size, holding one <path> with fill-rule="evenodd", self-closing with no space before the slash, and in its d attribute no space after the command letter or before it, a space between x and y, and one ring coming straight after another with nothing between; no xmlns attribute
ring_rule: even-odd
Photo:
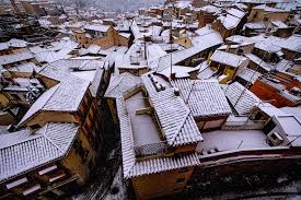
<svg viewBox="0 0 301 200"><path fill-rule="evenodd" d="M177 79L172 81L181 91L181 96L190 108L194 117L228 116L231 108L224 92L217 81L192 81Z"/></svg>

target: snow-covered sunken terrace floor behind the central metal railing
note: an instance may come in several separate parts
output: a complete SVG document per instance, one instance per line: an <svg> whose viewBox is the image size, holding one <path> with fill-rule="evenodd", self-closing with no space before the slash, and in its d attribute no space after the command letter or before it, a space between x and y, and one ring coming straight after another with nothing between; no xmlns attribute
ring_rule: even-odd
<svg viewBox="0 0 301 200"><path fill-rule="evenodd" d="M161 131L151 115L136 115L137 109L150 107L143 98L142 92L132 95L126 102L126 109L130 117L134 143L136 146L161 142Z"/></svg>

